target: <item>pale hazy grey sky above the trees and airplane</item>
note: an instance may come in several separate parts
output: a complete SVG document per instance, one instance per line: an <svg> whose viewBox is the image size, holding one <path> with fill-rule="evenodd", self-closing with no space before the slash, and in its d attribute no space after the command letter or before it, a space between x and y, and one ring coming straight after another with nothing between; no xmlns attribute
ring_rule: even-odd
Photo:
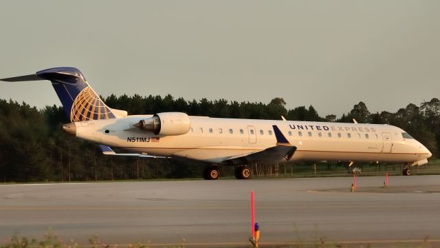
<svg viewBox="0 0 440 248"><path fill-rule="evenodd" d="M3 0L0 31L0 78L72 66L102 96L283 97L321 116L440 97L437 0ZM61 105L48 81L0 98Z"/></svg>

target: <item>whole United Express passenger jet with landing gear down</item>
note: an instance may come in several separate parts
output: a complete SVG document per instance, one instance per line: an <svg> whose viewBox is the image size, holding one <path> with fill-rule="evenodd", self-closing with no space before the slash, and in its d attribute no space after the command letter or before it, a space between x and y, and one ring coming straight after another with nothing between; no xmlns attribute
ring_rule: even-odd
<svg viewBox="0 0 440 248"><path fill-rule="evenodd" d="M393 125L254 120L188 116L182 112L128 115L108 107L76 68L51 68L1 81L48 80L70 123L67 134L98 143L109 156L173 158L205 164L203 178L219 179L219 166L234 166L237 179L250 165L286 161L428 163L431 152ZM117 154L113 148L125 150Z"/></svg>

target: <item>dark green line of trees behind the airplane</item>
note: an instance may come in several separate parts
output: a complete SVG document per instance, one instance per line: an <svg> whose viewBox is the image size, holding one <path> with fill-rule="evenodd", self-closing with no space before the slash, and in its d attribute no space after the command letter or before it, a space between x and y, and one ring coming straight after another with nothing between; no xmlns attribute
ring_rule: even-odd
<svg viewBox="0 0 440 248"><path fill-rule="evenodd" d="M101 97L102 98L102 97ZM171 95L115 96L104 99L109 107L129 114L185 112L188 115L220 118L255 118L292 121L329 121L389 124L401 127L423 143L434 157L440 149L440 100L408 104L397 112L369 112L361 101L347 114L319 116L313 106L287 110L282 98L270 103L219 99L186 101ZM62 107L43 109L27 103L0 99L0 181L129 180L144 178L199 177L201 165L167 159L104 156L94 143L61 132L67 123Z"/></svg>

